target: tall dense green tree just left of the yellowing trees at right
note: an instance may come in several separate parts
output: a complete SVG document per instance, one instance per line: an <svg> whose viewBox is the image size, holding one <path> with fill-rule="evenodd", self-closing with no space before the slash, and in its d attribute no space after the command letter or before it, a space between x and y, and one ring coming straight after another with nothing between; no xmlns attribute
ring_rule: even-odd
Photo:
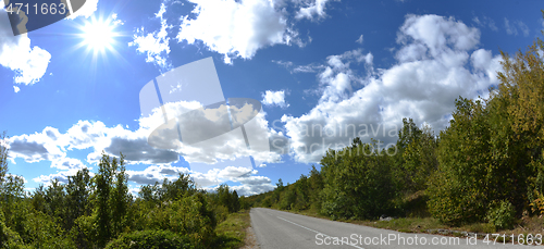
<svg viewBox="0 0 544 249"><path fill-rule="evenodd" d="M428 189L431 213L447 224L481 220L489 201L485 165L491 157L485 110L481 102L462 98L456 107L450 126L441 133L440 166Z"/></svg>

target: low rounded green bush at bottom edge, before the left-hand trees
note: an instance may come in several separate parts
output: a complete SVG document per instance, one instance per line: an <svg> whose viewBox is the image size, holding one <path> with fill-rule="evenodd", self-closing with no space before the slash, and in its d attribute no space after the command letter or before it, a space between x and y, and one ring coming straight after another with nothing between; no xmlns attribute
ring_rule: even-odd
<svg viewBox="0 0 544 249"><path fill-rule="evenodd" d="M137 231L122 234L119 238L110 241L107 249L177 249L195 248L190 245L187 236L176 235L170 231Z"/></svg>

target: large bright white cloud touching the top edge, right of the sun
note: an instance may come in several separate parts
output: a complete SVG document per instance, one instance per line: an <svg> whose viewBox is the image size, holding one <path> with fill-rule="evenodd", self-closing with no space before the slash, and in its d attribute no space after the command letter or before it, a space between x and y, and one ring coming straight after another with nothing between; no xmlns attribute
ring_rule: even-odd
<svg viewBox="0 0 544 249"><path fill-rule="evenodd" d="M276 1L189 1L197 4L193 11L196 17L183 17L177 40L200 40L211 51L223 54L225 63L235 58L251 59L268 46L298 42L298 34L289 27Z"/></svg>

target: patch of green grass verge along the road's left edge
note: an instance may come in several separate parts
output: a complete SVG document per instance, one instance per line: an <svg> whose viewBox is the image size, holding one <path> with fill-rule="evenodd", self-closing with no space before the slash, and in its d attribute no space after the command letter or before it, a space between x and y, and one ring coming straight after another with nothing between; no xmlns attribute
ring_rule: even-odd
<svg viewBox="0 0 544 249"><path fill-rule="evenodd" d="M246 229L250 224L248 210L228 214L225 221L215 227L218 237L213 248L235 249L243 247L245 245Z"/></svg>

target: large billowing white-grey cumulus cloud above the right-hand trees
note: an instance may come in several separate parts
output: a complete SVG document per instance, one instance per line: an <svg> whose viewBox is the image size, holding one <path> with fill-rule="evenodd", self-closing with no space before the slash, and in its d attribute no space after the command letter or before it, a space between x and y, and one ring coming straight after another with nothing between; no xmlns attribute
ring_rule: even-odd
<svg viewBox="0 0 544 249"><path fill-rule="evenodd" d="M475 98L496 83L499 55L473 51L479 42L477 28L453 17L407 15L392 67L373 70L371 53L357 50L329 57L318 73L319 103L299 117L282 117L292 155L318 162L329 148L348 146L354 137L376 138L384 148L396 141L403 117L446 127L456 98ZM353 70L362 61L364 75Z"/></svg>

